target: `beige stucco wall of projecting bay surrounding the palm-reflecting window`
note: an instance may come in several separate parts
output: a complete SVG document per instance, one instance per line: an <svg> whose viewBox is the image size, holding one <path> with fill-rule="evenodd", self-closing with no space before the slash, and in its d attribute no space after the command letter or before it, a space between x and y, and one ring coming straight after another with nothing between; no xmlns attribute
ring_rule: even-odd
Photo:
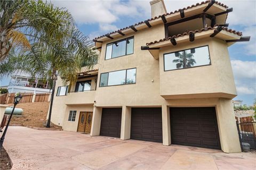
<svg viewBox="0 0 256 170"><path fill-rule="evenodd" d="M164 71L164 54L205 45L209 46L211 65ZM227 45L222 40L209 37L161 48L159 69L160 94L166 99L236 96Z"/></svg>

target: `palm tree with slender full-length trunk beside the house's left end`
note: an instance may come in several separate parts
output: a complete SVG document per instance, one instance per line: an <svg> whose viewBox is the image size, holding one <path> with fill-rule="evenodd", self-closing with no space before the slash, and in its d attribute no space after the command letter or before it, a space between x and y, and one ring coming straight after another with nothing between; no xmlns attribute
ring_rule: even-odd
<svg viewBox="0 0 256 170"><path fill-rule="evenodd" d="M31 20L32 17L28 16L29 22L41 24L41 26L27 30L29 35L33 35L29 39L31 48L12 50L16 55L9 55L7 60L2 62L0 74L13 73L15 67L18 67L20 71L50 80L52 95L46 126L50 128L54 90L58 77L64 82L74 84L77 72L82 66L90 69L97 61L97 55L89 46L91 43L89 37L84 36L76 28L67 10L42 1L33 2L30 5L31 13L39 13L37 18L40 19Z"/></svg>

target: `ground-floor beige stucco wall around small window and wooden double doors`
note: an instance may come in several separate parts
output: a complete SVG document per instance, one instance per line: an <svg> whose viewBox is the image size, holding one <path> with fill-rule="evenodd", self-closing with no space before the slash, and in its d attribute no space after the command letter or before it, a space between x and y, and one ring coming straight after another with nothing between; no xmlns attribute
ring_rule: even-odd
<svg viewBox="0 0 256 170"><path fill-rule="evenodd" d="M75 122L68 121L69 111L76 111ZM93 112L93 105L67 105L65 115L63 116L63 130L77 132L80 112Z"/></svg>

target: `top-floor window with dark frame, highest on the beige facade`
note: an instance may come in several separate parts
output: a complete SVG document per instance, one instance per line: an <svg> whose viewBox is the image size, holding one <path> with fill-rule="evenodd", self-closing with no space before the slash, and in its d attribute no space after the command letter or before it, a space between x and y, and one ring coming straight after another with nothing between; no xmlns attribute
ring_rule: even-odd
<svg viewBox="0 0 256 170"><path fill-rule="evenodd" d="M107 44L105 60L133 54L133 37Z"/></svg>

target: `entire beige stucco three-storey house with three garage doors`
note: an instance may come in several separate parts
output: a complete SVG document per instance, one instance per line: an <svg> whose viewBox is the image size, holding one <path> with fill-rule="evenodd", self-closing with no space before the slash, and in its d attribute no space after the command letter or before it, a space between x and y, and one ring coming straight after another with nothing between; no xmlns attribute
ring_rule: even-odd
<svg viewBox="0 0 256 170"><path fill-rule="evenodd" d="M99 65L62 85L52 122L66 131L239 152L228 46L246 40L224 25L226 5L206 1L94 39ZM223 27L225 26L225 27Z"/></svg>

